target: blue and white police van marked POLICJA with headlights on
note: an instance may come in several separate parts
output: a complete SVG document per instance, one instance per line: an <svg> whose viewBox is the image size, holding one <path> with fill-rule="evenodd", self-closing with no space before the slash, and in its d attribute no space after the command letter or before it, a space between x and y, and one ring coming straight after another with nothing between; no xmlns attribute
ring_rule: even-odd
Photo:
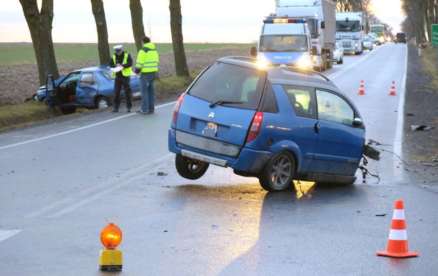
<svg viewBox="0 0 438 276"><path fill-rule="evenodd" d="M266 17L258 39L258 48L252 47L251 54L264 59L272 66L292 66L313 69L308 25L304 19Z"/></svg>

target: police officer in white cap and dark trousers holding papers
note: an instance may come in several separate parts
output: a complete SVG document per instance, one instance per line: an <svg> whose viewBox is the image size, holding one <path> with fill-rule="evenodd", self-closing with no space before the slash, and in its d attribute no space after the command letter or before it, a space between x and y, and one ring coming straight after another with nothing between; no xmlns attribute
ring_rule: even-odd
<svg viewBox="0 0 438 276"><path fill-rule="evenodd" d="M132 74L132 57L129 52L122 50L122 45L113 47L115 53L110 60L110 68L122 68L117 72L112 72L114 78L114 109L112 112L119 112L120 90L122 85L125 89L127 112L131 112L131 74Z"/></svg>

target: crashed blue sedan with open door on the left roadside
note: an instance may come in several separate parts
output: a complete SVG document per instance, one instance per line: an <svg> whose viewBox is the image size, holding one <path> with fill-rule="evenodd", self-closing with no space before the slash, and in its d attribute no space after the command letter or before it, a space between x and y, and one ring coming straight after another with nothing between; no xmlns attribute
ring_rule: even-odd
<svg viewBox="0 0 438 276"><path fill-rule="evenodd" d="M125 98L123 86L120 97ZM131 77L131 98L141 98L140 78ZM114 100L114 78L108 66L74 70L57 80L48 75L46 85L38 88L34 100L59 106L64 114L77 108L106 108Z"/></svg>

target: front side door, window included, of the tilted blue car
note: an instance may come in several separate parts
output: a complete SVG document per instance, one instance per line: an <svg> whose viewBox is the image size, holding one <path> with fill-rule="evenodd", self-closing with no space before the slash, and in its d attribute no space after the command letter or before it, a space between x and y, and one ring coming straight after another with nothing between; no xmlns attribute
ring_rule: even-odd
<svg viewBox="0 0 438 276"><path fill-rule="evenodd" d="M354 175L362 157L365 129L353 126L355 109L341 95L316 89L318 133L310 173Z"/></svg>

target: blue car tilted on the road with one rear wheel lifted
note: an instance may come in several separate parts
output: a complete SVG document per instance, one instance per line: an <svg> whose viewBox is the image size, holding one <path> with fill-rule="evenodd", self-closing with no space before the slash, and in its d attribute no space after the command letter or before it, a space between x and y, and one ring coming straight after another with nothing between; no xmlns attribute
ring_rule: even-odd
<svg viewBox="0 0 438 276"><path fill-rule="evenodd" d="M358 109L327 77L249 57L206 68L175 104L168 131L184 178L213 164L257 177L268 191L292 180L353 184L364 142Z"/></svg>

